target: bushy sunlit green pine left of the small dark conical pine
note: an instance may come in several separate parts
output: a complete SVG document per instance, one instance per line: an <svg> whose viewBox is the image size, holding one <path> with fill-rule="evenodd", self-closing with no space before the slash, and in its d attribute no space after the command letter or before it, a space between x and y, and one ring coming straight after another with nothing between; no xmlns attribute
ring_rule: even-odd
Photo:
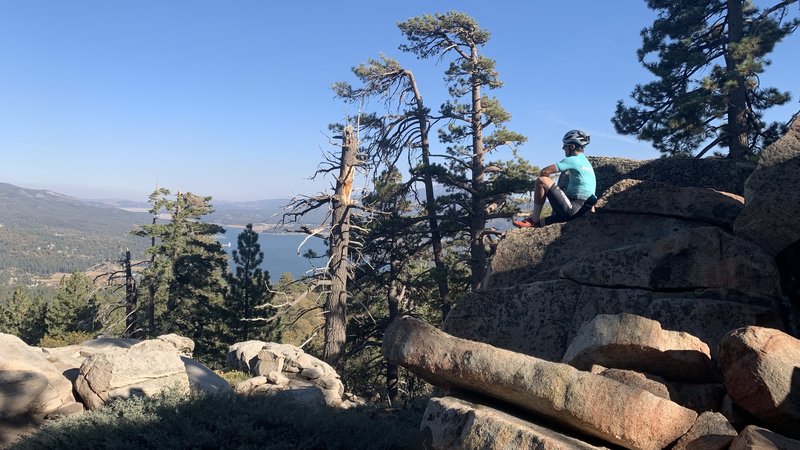
<svg viewBox="0 0 800 450"><path fill-rule="evenodd" d="M211 197L159 189L151 196L154 217L170 220L143 225L136 234L151 239L149 267L142 285L150 293L148 334L177 333L195 341L196 355L216 365L229 340L225 309L227 255L217 241L224 229L202 222L213 212Z"/></svg>

